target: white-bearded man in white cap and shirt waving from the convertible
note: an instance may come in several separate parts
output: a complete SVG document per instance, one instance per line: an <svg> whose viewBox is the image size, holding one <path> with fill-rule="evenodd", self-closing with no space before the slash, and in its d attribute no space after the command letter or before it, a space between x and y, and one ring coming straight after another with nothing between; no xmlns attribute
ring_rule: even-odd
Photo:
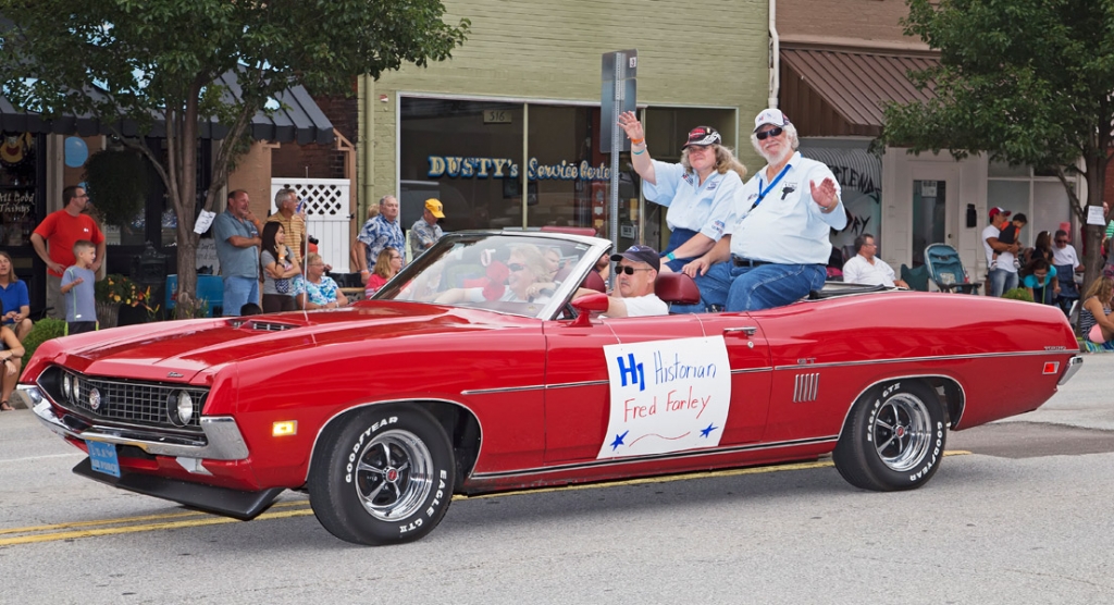
<svg viewBox="0 0 1114 605"><path fill-rule="evenodd" d="M778 109L754 118L754 149L769 164L735 193L723 238L685 265L703 308L759 311L820 290L831 255L830 230L847 226L836 175L802 157L797 128ZM702 306L673 311L700 311Z"/></svg>

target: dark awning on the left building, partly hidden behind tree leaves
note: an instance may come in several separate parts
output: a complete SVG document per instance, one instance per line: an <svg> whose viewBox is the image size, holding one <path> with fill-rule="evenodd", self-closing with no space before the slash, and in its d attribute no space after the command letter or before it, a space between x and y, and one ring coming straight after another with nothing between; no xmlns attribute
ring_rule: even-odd
<svg viewBox="0 0 1114 605"><path fill-rule="evenodd" d="M240 95L240 85L232 71L222 76L218 81L227 86L231 94ZM329 118L325 117L325 114L317 107L304 87L289 88L278 95L276 100L282 107L275 109L270 116L260 111L252 119L252 138L274 143L296 142L299 145L309 143L328 145L333 142L332 123L329 121ZM139 134L139 129L133 120L120 120L116 126L124 136L131 137ZM0 96L0 130L77 134L81 136L110 133L107 124L101 124L100 120L91 116L62 116L55 120L46 120L35 111L23 111L13 107L3 96ZM198 136L204 139L221 139L227 134L228 129L215 120L203 121L198 128ZM157 121L149 136L166 136L165 125L160 120Z"/></svg>

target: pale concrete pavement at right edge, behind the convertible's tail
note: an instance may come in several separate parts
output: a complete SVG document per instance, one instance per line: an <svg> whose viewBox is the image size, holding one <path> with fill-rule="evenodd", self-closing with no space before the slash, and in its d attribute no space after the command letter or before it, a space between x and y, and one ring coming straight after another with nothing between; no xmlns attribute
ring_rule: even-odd
<svg viewBox="0 0 1114 605"><path fill-rule="evenodd" d="M1114 431L1114 353L1083 353L1083 368L1047 403L999 422L1044 422Z"/></svg>

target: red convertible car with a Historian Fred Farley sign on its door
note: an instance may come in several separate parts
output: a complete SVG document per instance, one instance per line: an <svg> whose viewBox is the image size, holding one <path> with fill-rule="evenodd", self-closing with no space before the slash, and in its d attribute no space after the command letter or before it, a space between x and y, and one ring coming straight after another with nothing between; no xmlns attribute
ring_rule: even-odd
<svg viewBox="0 0 1114 605"><path fill-rule="evenodd" d="M241 519L305 490L333 535L385 545L455 494L825 455L856 487L917 488L949 430L1036 409L1082 362L1056 308L983 296L832 284L592 316L570 300L609 247L452 234L373 300L58 339L20 389L81 476ZM657 287L692 301L687 277Z"/></svg>

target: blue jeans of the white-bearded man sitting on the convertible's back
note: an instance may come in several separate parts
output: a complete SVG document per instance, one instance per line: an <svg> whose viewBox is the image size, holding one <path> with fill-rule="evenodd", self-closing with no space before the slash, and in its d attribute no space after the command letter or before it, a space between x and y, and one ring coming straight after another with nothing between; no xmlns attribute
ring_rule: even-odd
<svg viewBox="0 0 1114 605"><path fill-rule="evenodd" d="M701 313L710 305L725 311L761 311L799 301L824 286L823 265L735 266L716 263L696 277L700 304L673 305L674 313Z"/></svg>

